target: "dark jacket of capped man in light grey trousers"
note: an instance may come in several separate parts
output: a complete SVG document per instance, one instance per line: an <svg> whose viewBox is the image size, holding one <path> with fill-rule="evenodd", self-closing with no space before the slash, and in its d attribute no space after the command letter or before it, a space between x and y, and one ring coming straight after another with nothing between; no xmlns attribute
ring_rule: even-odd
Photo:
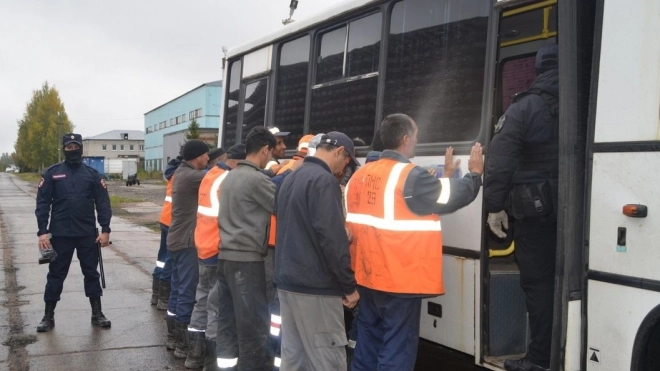
<svg viewBox="0 0 660 371"><path fill-rule="evenodd" d="M356 282L339 183L322 160L304 161L275 195L275 283L296 293L352 294Z"/></svg>

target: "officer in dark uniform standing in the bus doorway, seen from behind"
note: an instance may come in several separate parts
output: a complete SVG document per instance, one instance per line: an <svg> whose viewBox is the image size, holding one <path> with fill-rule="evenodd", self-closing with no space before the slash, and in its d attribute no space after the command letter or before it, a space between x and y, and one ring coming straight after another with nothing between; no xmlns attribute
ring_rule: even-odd
<svg viewBox="0 0 660 371"><path fill-rule="evenodd" d="M559 157L557 52L552 44L537 53L537 78L500 118L486 166L488 225L503 238L507 211L515 219L515 256L529 314L527 355L507 360L504 367L509 371L550 367Z"/></svg>

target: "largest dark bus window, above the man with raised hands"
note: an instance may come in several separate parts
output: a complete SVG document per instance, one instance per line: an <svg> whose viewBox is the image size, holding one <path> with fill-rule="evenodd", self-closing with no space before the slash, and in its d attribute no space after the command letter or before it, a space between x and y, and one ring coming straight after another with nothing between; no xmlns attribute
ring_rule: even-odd
<svg viewBox="0 0 660 371"><path fill-rule="evenodd" d="M383 114L412 116L419 143L476 139L491 3L406 0L392 9Z"/></svg>

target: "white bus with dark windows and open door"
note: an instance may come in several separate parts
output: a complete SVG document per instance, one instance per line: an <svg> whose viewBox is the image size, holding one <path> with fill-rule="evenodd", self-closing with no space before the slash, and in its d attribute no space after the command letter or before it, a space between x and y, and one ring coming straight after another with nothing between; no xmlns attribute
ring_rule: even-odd
<svg viewBox="0 0 660 371"><path fill-rule="evenodd" d="M659 370L660 1L348 1L229 50L220 143L265 125L288 148L331 130L368 144L402 112L419 125L413 161L440 166L453 146L464 174L546 43L560 66L551 368ZM420 337L502 370L528 343L515 259L481 196L442 223L446 294L424 302Z"/></svg>

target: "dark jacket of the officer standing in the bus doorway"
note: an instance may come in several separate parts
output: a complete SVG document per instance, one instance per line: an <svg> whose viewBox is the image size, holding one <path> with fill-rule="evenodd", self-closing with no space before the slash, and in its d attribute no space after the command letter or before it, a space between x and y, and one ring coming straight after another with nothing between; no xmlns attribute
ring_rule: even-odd
<svg viewBox="0 0 660 371"><path fill-rule="evenodd" d="M558 97L559 71L554 69L539 75L530 90ZM500 118L488 148L484 181L486 212L505 209L514 183L531 183L539 174L556 178L556 125L556 116L540 95L523 94L514 98Z"/></svg>

